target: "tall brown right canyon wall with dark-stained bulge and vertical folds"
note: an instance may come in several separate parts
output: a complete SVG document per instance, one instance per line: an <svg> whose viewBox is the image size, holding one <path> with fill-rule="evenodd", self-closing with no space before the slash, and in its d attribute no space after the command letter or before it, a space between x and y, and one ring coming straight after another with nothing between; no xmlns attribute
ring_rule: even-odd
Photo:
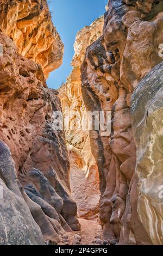
<svg viewBox="0 0 163 256"><path fill-rule="evenodd" d="M141 139L136 132L139 123L134 119L135 146L130 114L131 94L142 78L162 60L159 56L159 45L163 42L162 11L162 1L109 1L108 11L104 15L103 35L87 48L81 69L86 109L111 111L110 136L103 136L101 130L93 129L90 141L99 170L103 235L105 239L118 240L122 245L162 243L162 209L159 200L155 199L155 193L149 192L151 179L151 184L158 182L157 171L153 167L151 170L150 164L146 170L147 156L151 153L145 153L143 161L139 159L143 154L141 152L137 155L137 162L141 161L141 164L136 165L135 173L136 147L138 150L143 147L148 150L148 145L145 145L145 138L142 147L139 145ZM136 95L138 91L139 88ZM152 95L150 100L152 102ZM145 97L142 101L145 101L145 106L148 105ZM139 106L140 113L145 113L144 105L140 103ZM142 120L144 124L141 117L140 122ZM152 120L149 122L147 137L152 137L151 125L155 124L152 124ZM141 134L146 136L145 128L142 128ZM155 143L150 145L149 150L152 150ZM145 181L141 180L141 172ZM152 173L150 178L147 178L147 172Z"/></svg>

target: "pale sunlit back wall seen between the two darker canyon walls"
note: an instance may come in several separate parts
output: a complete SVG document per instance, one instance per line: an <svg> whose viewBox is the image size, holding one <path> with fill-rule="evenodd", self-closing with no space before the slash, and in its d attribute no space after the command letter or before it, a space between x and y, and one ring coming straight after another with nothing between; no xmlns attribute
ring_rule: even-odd
<svg viewBox="0 0 163 256"><path fill-rule="evenodd" d="M87 46L102 35L103 25L104 19L100 17L91 26L84 27L78 32L74 44L73 70L66 84L59 89L70 156L72 197L78 205L78 215L87 219L98 216L100 192L98 168L91 153L89 131L86 126L87 113L82 99L80 66Z"/></svg>

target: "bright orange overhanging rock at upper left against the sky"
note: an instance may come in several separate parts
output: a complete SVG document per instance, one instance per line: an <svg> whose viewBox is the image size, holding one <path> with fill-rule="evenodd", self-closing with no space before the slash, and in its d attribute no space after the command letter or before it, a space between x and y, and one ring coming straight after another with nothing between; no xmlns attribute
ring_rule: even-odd
<svg viewBox="0 0 163 256"><path fill-rule="evenodd" d="M47 1L0 1L0 31L22 56L41 65L45 77L62 63L64 46L53 26Z"/></svg>

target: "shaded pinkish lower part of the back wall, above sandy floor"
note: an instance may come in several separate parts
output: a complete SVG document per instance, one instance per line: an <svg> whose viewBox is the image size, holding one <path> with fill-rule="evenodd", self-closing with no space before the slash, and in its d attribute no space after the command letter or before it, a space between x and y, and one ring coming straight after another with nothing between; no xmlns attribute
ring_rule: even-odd
<svg viewBox="0 0 163 256"><path fill-rule="evenodd" d="M95 165L82 166L82 160L74 153L70 154L71 195L78 206L79 218L92 220L99 215L99 176Z"/></svg>

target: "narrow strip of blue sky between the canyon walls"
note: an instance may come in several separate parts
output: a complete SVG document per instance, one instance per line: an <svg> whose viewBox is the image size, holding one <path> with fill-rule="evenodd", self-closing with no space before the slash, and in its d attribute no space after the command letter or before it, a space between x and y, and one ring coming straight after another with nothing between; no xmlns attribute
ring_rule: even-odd
<svg viewBox="0 0 163 256"><path fill-rule="evenodd" d="M105 12L107 0L51 0L47 1L51 10L54 26L61 36L65 46L63 63L59 69L49 75L47 84L49 88L58 89L70 74L70 65L74 50L73 44L77 32L89 26Z"/></svg>

